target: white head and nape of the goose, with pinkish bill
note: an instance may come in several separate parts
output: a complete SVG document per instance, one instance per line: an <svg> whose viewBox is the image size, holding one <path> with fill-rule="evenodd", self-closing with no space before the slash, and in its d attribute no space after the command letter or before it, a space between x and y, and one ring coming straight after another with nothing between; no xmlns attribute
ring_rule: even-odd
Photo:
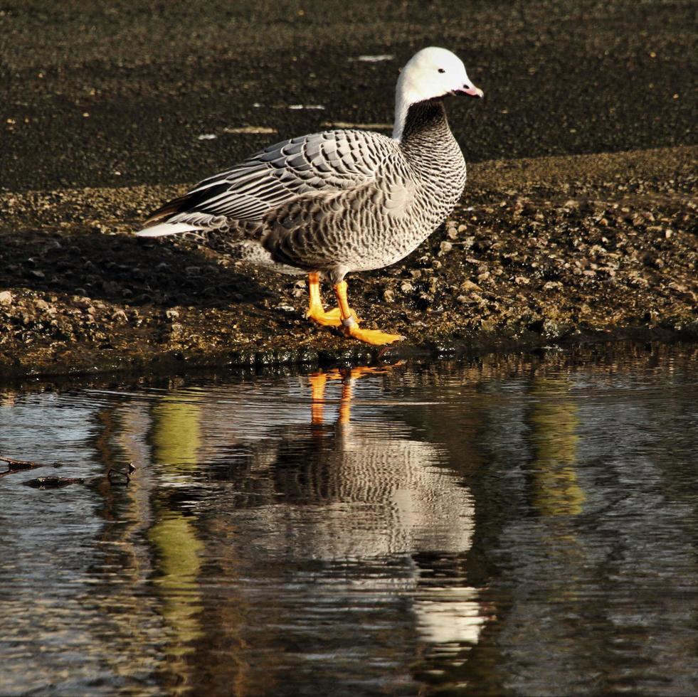
<svg viewBox="0 0 698 697"><path fill-rule="evenodd" d="M457 55L436 46L423 48L408 60L398 78L393 138L401 139L411 105L446 95L484 96L468 78L465 65Z"/></svg>

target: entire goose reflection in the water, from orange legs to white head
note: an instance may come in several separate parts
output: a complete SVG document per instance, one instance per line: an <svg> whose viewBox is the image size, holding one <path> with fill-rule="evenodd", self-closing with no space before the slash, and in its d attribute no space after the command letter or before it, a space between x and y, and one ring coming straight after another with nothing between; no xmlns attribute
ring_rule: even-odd
<svg viewBox="0 0 698 697"><path fill-rule="evenodd" d="M413 439L396 410L359 401L361 415L352 418L359 378L388 369L309 376L310 425L281 426L273 450L269 442L253 450L248 471L266 474L263 481L273 490L245 505L256 510L265 547L286 558L385 565L408 560L408 573L366 575L351 585L408 595L423 642L462 648L477 642L485 622L479 591L463 579L474 501L460 477L443 466L443 449ZM270 506L270 500L280 503ZM435 561L443 582L431 578Z"/></svg>

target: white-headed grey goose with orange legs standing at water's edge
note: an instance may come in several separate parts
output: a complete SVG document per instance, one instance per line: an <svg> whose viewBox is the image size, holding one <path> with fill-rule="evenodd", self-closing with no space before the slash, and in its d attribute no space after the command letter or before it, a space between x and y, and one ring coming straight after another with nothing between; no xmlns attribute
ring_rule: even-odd
<svg viewBox="0 0 698 697"><path fill-rule="evenodd" d="M458 203L465 160L448 95L483 92L457 55L423 48L398 77L392 137L334 129L270 145L164 203L136 234L194 236L238 260L307 274L309 319L367 344L400 341L359 326L344 277L403 259ZM334 287L334 309L323 307L321 280Z"/></svg>

